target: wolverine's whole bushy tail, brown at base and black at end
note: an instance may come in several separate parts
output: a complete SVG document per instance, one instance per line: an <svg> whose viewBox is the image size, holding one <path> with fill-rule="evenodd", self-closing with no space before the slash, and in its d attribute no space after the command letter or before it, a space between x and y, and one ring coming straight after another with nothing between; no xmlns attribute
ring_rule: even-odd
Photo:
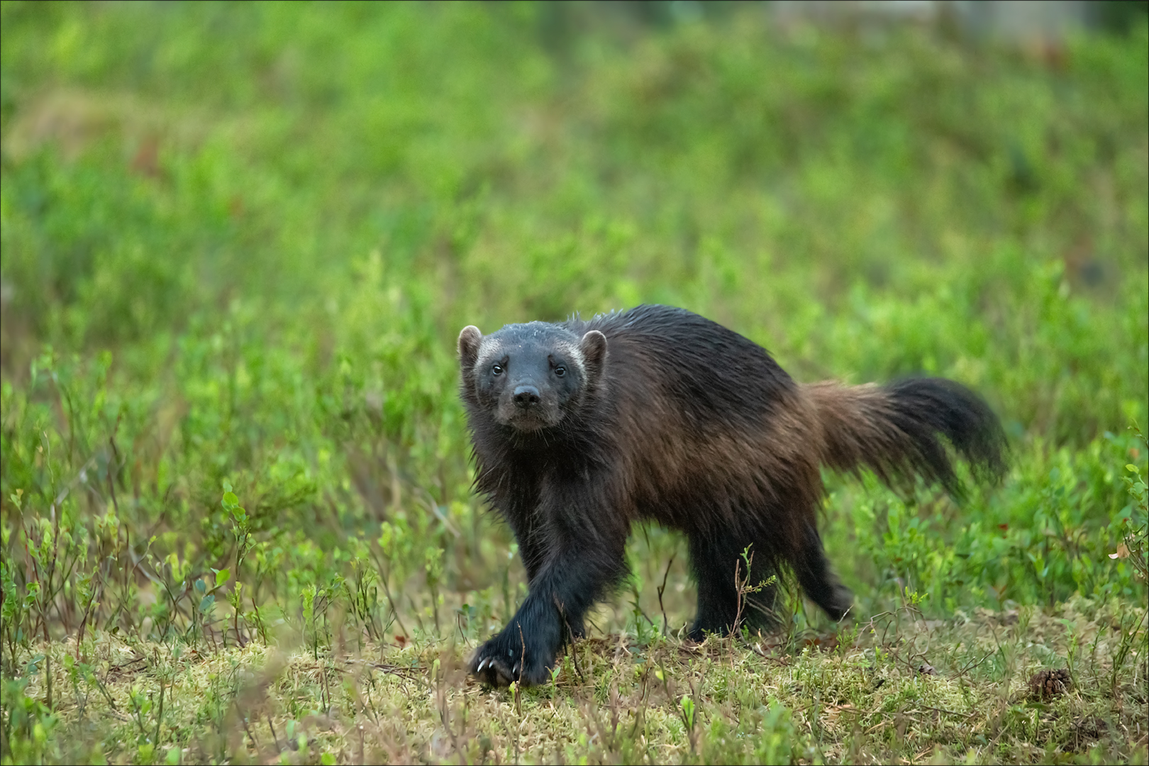
<svg viewBox="0 0 1149 766"><path fill-rule="evenodd" d="M865 466L888 486L915 475L961 497L948 441L979 479L1005 472L1005 434L980 396L944 378L910 378L887 386L803 386L824 432L823 463L839 471ZM942 440L944 438L944 441Z"/></svg>

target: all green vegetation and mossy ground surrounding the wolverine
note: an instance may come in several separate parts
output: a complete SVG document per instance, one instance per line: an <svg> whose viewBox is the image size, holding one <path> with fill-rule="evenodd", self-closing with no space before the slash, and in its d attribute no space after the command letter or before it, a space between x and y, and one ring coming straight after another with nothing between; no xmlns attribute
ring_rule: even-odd
<svg viewBox="0 0 1149 766"><path fill-rule="evenodd" d="M0 8L3 763L1146 759L1143 23ZM641 302L961 380L1010 473L827 474L853 621L701 649L637 529L555 683L484 690L525 583L455 336Z"/></svg>

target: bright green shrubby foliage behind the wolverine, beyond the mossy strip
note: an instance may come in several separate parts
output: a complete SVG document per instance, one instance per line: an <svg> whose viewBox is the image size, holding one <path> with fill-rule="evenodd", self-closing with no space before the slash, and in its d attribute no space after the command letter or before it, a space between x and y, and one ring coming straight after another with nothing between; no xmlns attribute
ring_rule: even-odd
<svg viewBox="0 0 1149 766"><path fill-rule="evenodd" d="M329 612L481 637L524 585L456 334L641 302L1002 415L1012 471L962 508L827 475L859 614L1143 605L1143 20L1027 47L655 11L2 5L6 668L84 632L317 652ZM674 551L688 619L683 549L635 535L601 627L657 613Z"/></svg>

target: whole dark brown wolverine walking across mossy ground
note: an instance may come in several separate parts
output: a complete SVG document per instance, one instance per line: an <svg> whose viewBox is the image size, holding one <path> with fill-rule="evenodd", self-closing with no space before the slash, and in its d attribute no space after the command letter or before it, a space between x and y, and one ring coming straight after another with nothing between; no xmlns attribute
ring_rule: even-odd
<svg viewBox="0 0 1149 766"><path fill-rule="evenodd" d="M685 533L697 612L689 637L770 622L774 588L739 612L735 578L786 567L834 620L853 594L823 551L822 466L962 492L1004 471L996 416L942 378L795 382L742 335L685 309L629 311L458 335L476 488L518 541L529 593L471 659L486 683L537 684L593 604L627 574L635 521ZM951 449L950 449L951 448ZM749 548L753 571L743 551ZM741 567L741 568L739 568Z"/></svg>

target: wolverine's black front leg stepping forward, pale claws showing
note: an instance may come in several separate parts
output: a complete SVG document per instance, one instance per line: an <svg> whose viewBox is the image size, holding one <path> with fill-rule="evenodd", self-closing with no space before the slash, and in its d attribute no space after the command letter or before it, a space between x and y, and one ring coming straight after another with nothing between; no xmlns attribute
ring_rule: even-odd
<svg viewBox="0 0 1149 766"><path fill-rule="evenodd" d="M563 640L581 633L586 611L626 573L627 529L596 518L603 506L570 501L568 495L540 509L547 521L546 557L515 617L471 658L480 681L543 683Z"/></svg>

